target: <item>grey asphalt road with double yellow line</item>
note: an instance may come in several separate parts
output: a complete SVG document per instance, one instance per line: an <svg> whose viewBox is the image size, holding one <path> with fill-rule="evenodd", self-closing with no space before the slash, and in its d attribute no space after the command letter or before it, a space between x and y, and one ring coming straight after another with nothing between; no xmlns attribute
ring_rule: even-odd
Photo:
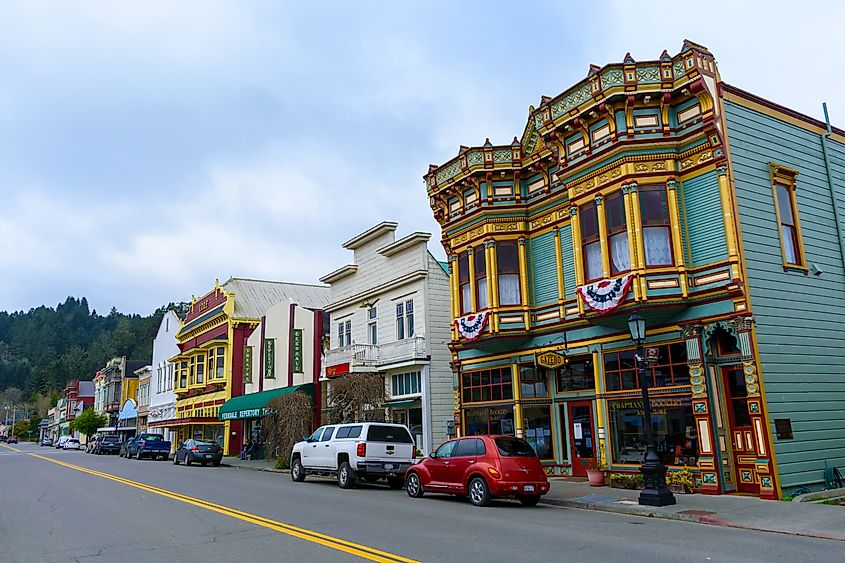
<svg viewBox="0 0 845 563"><path fill-rule="evenodd" d="M2 562L829 562L845 553L830 540L15 448L0 447Z"/></svg>

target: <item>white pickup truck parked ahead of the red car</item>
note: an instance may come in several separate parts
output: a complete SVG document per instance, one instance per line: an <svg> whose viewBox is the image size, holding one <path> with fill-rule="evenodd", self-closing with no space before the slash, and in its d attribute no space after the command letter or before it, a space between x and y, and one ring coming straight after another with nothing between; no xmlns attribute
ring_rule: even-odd
<svg viewBox="0 0 845 563"><path fill-rule="evenodd" d="M405 470L416 462L416 446L408 428L385 422L357 422L321 426L291 452L290 475L296 482L306 475L337 476L343 489L357 479L374 483L387 479L402 488Z"/></svg>

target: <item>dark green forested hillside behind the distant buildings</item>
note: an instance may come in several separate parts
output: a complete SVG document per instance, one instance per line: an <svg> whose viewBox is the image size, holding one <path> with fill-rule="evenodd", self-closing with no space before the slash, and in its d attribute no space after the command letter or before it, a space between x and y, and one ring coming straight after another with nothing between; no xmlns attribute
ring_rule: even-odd
<svg viewBox="0 0 845 563"><path fill-rule="evenodd" d="M153 338L171 307L147 317L114 308L103 316L89 310L84 297L68 297L55 309L0 312L0 391L17 387L29 396L60 390L70 379L90 379L114 356L150 361Z"/></svg>

